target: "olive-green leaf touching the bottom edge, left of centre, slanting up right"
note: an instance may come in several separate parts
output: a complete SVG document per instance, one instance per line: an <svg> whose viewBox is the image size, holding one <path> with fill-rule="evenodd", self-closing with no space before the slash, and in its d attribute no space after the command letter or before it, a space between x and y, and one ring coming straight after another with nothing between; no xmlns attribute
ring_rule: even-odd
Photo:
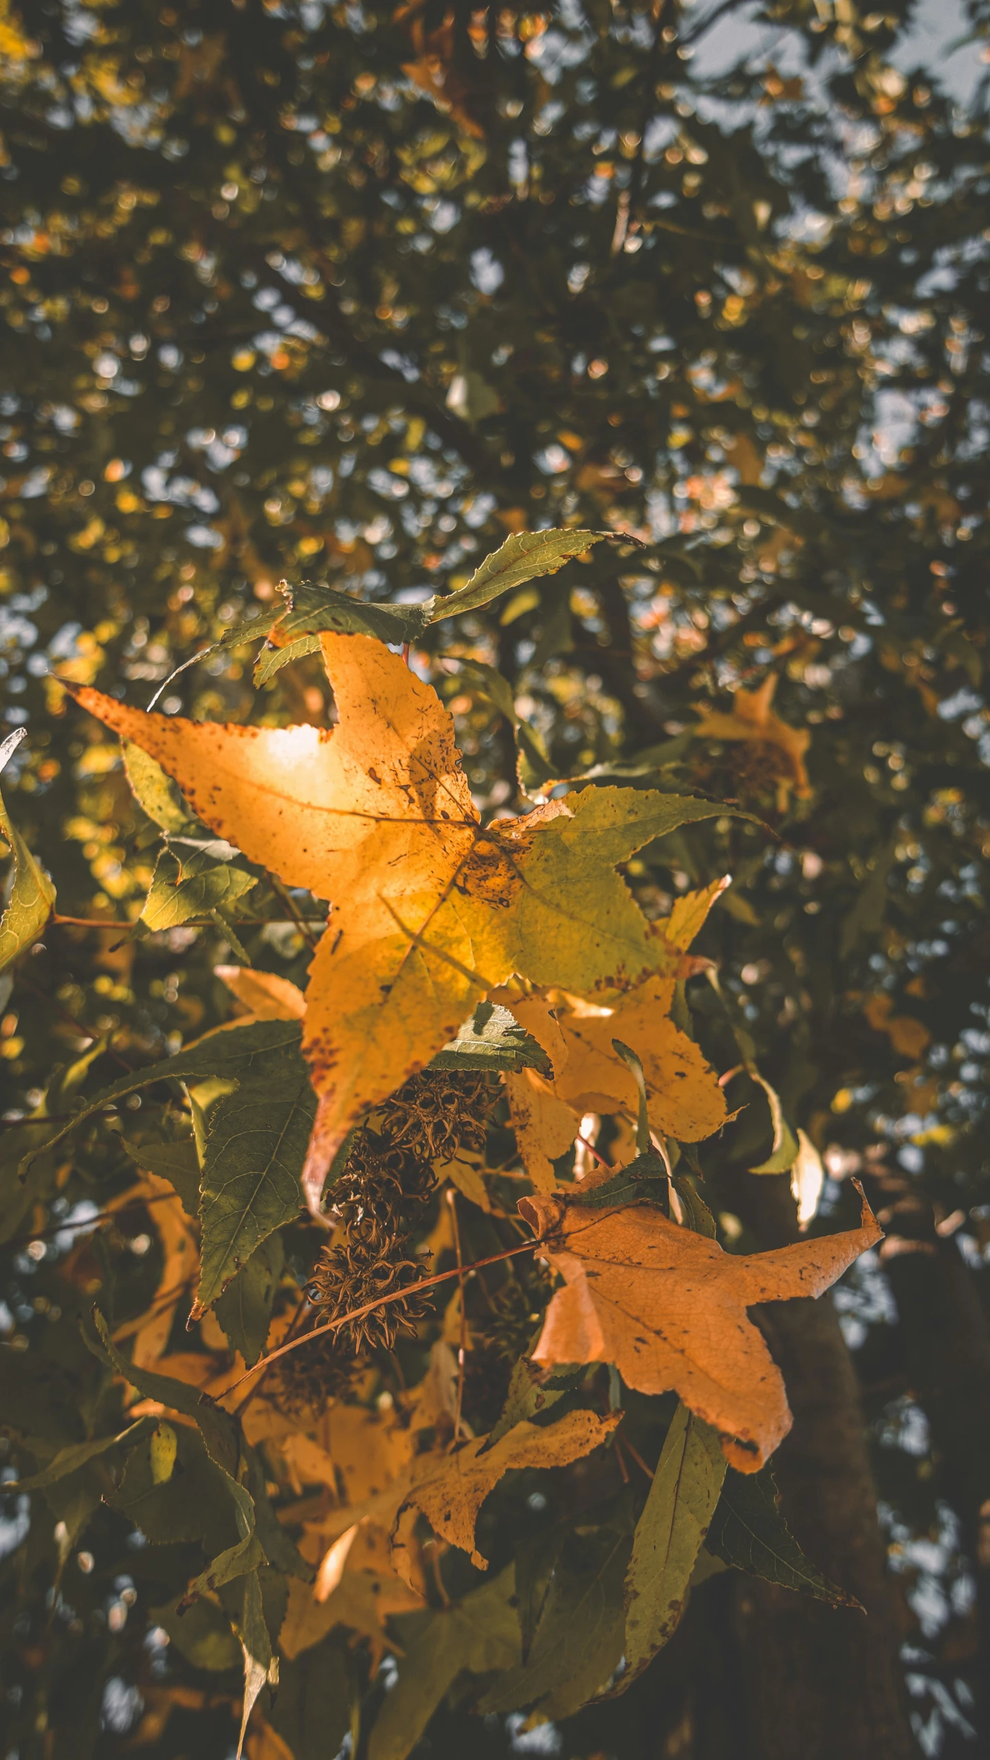
<svg viewBox="0 0 990 1760"><path fill-rule="evenodd" d="M520 1658L520 1624L511 1605L513 1566L463 1602L417 1617L398 1681L379 1711L368 1760L405 1760L458 1674L511 1668Z"/></svg>

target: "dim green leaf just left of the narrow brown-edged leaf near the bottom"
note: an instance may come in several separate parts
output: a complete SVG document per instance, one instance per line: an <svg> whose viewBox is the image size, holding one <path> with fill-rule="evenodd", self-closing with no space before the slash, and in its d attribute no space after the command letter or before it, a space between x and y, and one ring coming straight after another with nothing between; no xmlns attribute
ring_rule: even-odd
<svg viewBox="0 0 990 1760"><path fill-rule="evenodd" d="M569 1718L608 1686L622 1658L622 1584L629 1549L625 1526L567 1535L528 1660L488 1690L479 1711L536 1705L541 1716Z"/></svg>

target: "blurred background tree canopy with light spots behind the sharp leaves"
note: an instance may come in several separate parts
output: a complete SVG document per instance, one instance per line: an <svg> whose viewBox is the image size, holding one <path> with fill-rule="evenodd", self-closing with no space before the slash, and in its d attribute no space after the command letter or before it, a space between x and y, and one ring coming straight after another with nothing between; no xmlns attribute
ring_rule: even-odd
<svg viewBox="0 0 990 1760"><path fill-rule="evenodd" d="M347 1730L354 1755L370 1742L372 1760L400 1760L433 1707L417 1753L470 1742L491 1760L895 1760L986 1739L986 107L976 72L964 104L918 65L912 12L0 5L0 669L7 729L26 729L4 829L23 840L21 876L30 850L58 889L44 942L0 945L11 1760L233 1753L231 1621L261 1679L264 1632L282 1628L252 1760L331 1760ZM706 72L713 30L745 21L738 56ZM988 25L971 0L974 70ZM539 528L617 542L416 623L423 600ZM255 672L257 646L231 630L264 614L264 635L280 581L296 637L266 644ZM305 1426L278 1452L285 1420L250 1450L248 1480L227 1420L203 1419L197 1389L218 1385L234 1343L250 1362L273 1302L282 1331L298 1311L319 1230L287 1223L252 1257L250 1288L241 1274L227 1309L185 1329L196 1135L229 1084L180 1054L231 1017L217 964L301 984L319 920L308 892L211 843L134 748L125 769L55 674L139 708L164 686L167 716L326 725L305 616L326 597L307 600L307 581L405 607L410 630L379 634L410 641L484 817L576 776L728 803L624 875L655 919L733 875L696 943L719 984L701 972L675 1001L713 1068L738 1070L738 1121L699 1163L683 1148L722 1246L856 1227L853 1174L886 1230L833 1299L759 1309L794 1412L775 1473L800 1568L867 1619L796 1596L782 1566L759 1573L759 1535L722 1501L717 1556L742 1568L698 1582L650 1670L581 1711L604 1684L588 1628L587 1691L551 1695L548 1727L506 1716L497 1688L479 1698L518 1637L500 1577L477 1589L465 1554L437 1552L430 1610L393 1584L380 1617L354 1600L386 1580L368 1558L338 1617L298 1651L285 1639L305 1522L326 1533L340 1500L365 1496L347 1475L372 1471L403 1383L430 1364L442 1380L442 1350L456 1364L469 1297L451 1316L447 1287L419 1339L356 1339L347 1410L379 1413L379 1441L356 1429L331 1466ZM159 831L180 855L157 852ZM250 1081L275 1105L291 1058L285 1024L266 1033ZM18 1176L81 1096L167 1058L185 1088L162 1077L100 1104ZM796 1176L777 1172L798 1144ZM484 1155L483 1169L513 1165L504 1116ZM502 1197L486 1197L477 1165L463 1241L440 1227L446 1202L407 1193L391 1246L416 1262L428 1234L449 1269L462 1246L474 1260L513 1244L518 1188L493 1174ZM548 1288L539 1267L506 1272L493 1313L472 1316L458 1420L463 1401L474 1434L499 1419ZM333 1392L333 1364L285 1360L310 1364L299 1385L285 1373L285 1410L315 1397L314 1376ZM120 1364L139 1375L130 1419ZM181 1417L176 1382L185 1422L162 1426L162 1406ZM659 1419L638 1397L625 1408L650 1471ZM122 1441L127 1424L143 1429ZM548 1582L571 1619L608 1577L627 1517L617 1494L611 1526L581 1529L581 1496L608 1491L595 1471L562 1468L546 1491L520 1470L521 1491L483 1515L499 1565L513 1556L499 1535L525 1538L530 1621ZM578 1521L569 1552L564 1521ZM268 1563L180 1617L204 1559L248 1544ZM476 1624L469 1593L488 1596ZM389 1702L395 1646L407 1677L447 1658L432 1700Z"/></svg>

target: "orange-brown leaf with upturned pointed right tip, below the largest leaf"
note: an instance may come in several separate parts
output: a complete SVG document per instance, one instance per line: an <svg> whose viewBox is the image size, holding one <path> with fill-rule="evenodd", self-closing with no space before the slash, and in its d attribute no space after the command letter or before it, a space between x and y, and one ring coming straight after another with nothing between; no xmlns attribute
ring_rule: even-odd
<svg viewBox="0 0 990 1760"><path fill-rule="evenodd" d="M821 1295L883 1239L865 1197L860 1228L740 1255L652 1204L592 1213L532 1197L520 1199L520 1213L565 1280L532 1360L613 1362L641 1394L673 1389L719 1431L740 1473L759 1471L793 1422L784 1378L747 1308Z"/></svg>

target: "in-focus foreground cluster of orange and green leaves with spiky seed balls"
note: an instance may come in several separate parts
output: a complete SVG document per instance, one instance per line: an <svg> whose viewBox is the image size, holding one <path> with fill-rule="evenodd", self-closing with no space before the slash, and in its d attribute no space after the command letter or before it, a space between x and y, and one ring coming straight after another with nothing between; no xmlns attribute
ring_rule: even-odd
<svg viewBox="0 0 990 1760"><path fill-rule="evenodd" d="M585 540L580 533L571 544ZM562 533L534 535L525 544L525 572L532 577L548 561L557 565L562 544ZM481 579L509 576L511 584L523 572L521 549L507 539ZM477 586L469 584L465 600L472 593ZM359 620L363 607L352 602L351 614ZM282 1739L280 1695L268 1707L271 1723L255 1712L259 1695L278 1688L282 1656L292 1661L317 1644L335 1647L340 1626L351 1642L368 1646L368 1660L389 1644L398 1649L400 1614L430 1607L432 1565L442 1607L453 1591L463 1609L467 1646L440 1640L442 1667L426 1676L403 1656L379 1718L373 1676L363 1695L349 1691L335 1704L342 1728L347 1716L372 1712L370 1753L405 1760L454 1683L463 1697L465 1674L479 1677L479 1709L528 1709L539 1718L567 1716L597 1693L627 1688L673 1633L696 1570L705 1575L719 1568L713 1559L738 1561L729 1544L728 1556L726 1549L706 1554L699 1565L722 1508L726 1463L740 1485L717 1531L726 1522L731 1529L729 1512L742 1508L763 1529L761 1568L772 1580L791 1582L803 1570L812 1593L844 1598L802 1559L773 1491L747 1485L789 1429L791 1413L745 1308L821 1294L879 1239L879 1228L863 1209L858 1230L731 1258L715 1241L696 1184L669 1172L671 1149L682 1155L675 1130L694 1142L726 1118L713 1072L668 1012L678 982L698 970L687 945L722 884L685 894L669 919L648 922L617 866L645 843L715 817L717 804L590 785L483 827L437 693L373 635L324 634L321 648L338 709L329 732L194 723L125 709L92 688L76 692L123 734L139 797L151 806L167 801L185 832L211 832L243 852L245 892L278 869L278 885L296 882L299 920L317 920L321 898L331 905L305 991L261 970L218 968L250 1010L247 1017L129 1072L78 1104L60 1128L35 1125L39 1140L23 1156L19 1177L33 1183L39 1200L60 1179L56 1151L90 1119L120 1118L122 1102L141 1089L181 1084L187 1109L169 1109L169 1133L123 1144L137 1172L115 1206L159 1199L181 1204L188 1221L160 1228L162 1281L136 1316L115 1325L116 1280L99 1283L92 1322L83 1322L83 1345L104 1369L102 1422L90 1426L97 1434L55 1450L37 1434L28 1419L30 1355L12 1359L26 1376L12 1375L7 1419L19 1456L35 1466L23 1489L70 1510L70 1519L60 1517L65 1552L81 1545L99 1501L130 1517L144 1542L201 1544L204 1568L151 1616L201 1668L225 1670L231 1642L224 1639L236 1633L243 1651L238 1756L252 1718L255 1732L271 1728ZM169 776L180 781L183 803L169 796ZM183 840L196 864L187 876L192 864L173 854L174 836L162 825L178 873L162 878L159 859L136 920L144 933L164 887L171 887L169 920L180 926L203 912L201 889L211 876L231 871L210 836L192 836ZM33 857L18 855L4 917L11 963L35 945L55 903ZM308 901L298 898L299 880L308 884ZM227 935L236 940L231 924ZM521 986L518 996L504 987L509 977ZM493 1000L504 996L513 1008ZM557 996L569 1000L560 1019ZM472 998L474 1014L458 1023ZM447 1040L458 1024L462 1031ZM618 1030L641 1044L643 1058L615 1037ZM460 1074L433 1072L432 1056ZM490 1086L499 1067L504 1082L516 1084L506 1098ZM536 1086L520 1093L525 1074ZM617 1170L604 1183L601 1174L581 1177L565 1165L574 1162L580 1111L592 1102L618 1126L636 1112L636 1153L627 1128L629 1155L622 1156L617 1139ZM514 1148L506 1158L502 1140L502 1158L491 1162L486 1126L499 1116L509 1132L516 1126ZM546 1156L553 1133L560 1137L557 1172ZM514 1232L506 1207L513 1179L546 1193L520 1199L518 1211L565 1288L546 1306L536 1348L506 1364L499 1399L497 1375L484 1392L477 1376L467 1376L477 1295L465 1281L476 1265L465 1267L458 1195L467 1237L488 1221L504 1243L506 1227L509 1239ZM675 1181L671 1199L668 1181ZM446 1190L430 1223L425 1209L435 1186ZM308 1223L299 1221L303 1195ZM312 1258L328 1200L335 1236L319 1250L299 1297L284 1232L294 1223L298 1250L308 1246ZM588 1207L601 1216L588 1216ZM449 1220L456 1267L423 1276L423 1260L410 1255L442 1257L442 1220ZM502 1265L511 1276L507 1262L520 1250L516 1232L513 1244L488 1253L477 1269ZM199 1325L203 1348L169 1352L196 1276L188 1325ZM437 1311L435 1295L453 1280L454 1297ZM486 1283L476 1288L491 1304ZM546 1295L544 1287L544 1304ZM273 1329L280 1348L261 1357ZM412 1389L388 1385L400 1332L430 1364ZM120 1350L127 1338L134 1339L130 1355ZM217 1345L225 1362L217 1360ZM287 1376L285 1357L301 1353L299 1371ZM266 1387L270 1362L282 1369ZM648 1436L624 1420L597 1364L611 1366L618 1385L652 1396L646 1412L664 1394L680 1396L655 1471L643 1463ZM250 1394L231 1412L222 1399L245 1378ZM123 1412L115 1380L123 1387ZM365 1401L373 1396L379 1413L388 1412L389 1454L382 1484L358 1489L351 1482L344 1492L338 1420L375 1422L375 1404L347 1403L358 1389ZM479 1431L486 1406L493 1424ZM652 1480L648 1494L618 1489L622 1436ZM597 1498L581 1508L578 1526L560 1507L557 1522L544 1524L537 1582L530 1582L532 1538L518 1549L520 1480L513 1477L493 1524L502 1568L490 1588L474 1588L469 1566L488 1570L476 1522L506 1473L527 1475L528 1484L534 1471L565 1468L608 1445ZM314 1482L336 1492L329 1512L314 1515L305 1501L284 1501L285 1475L296 1496ZM562 1494L565 1510L567 1478ZM585 1554L588 1533L597 1536L590 1570L587 1558L576 1565L567 1551L580 1540ZM467 1554L460 1563L458 1552ZM344 1579L356 1573L365 1595L380 1593L372 1621L351 1610ZM587 1630L574 1621L576 1591L594 1607ZM190 1626L180 1624L194 1607L199 1614ZM446 1623L444 1612L433 1617ZM284 1642L285 1623L291 1637ZM417 1644L435 1647L432 1623ZM308 1746L305 1737L303 1751Z"/></svg>

